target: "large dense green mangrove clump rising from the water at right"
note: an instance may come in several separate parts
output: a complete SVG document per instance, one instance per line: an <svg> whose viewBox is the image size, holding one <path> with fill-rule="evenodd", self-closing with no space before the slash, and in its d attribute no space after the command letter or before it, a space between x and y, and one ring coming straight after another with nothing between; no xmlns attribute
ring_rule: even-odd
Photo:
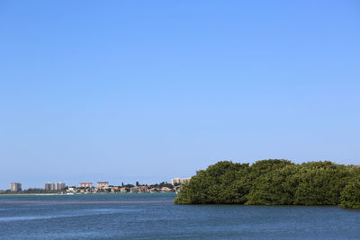
<svg viewBox="0 0 360 240"><path fill-rule="evenodd" d="M176 204L339 205L360 209L360 166L288 160L222 161L181 187Z"/></svg>

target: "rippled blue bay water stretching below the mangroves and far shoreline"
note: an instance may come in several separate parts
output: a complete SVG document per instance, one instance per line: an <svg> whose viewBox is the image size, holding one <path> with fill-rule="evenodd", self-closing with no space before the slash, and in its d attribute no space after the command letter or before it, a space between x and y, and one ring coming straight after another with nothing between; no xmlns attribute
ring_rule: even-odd
<svg viewBox="0 0 360 240"><path fill-rule="evenodd" d="M0 239L360 239L359 210L177 206L174 198L0 195Z"/></svg>

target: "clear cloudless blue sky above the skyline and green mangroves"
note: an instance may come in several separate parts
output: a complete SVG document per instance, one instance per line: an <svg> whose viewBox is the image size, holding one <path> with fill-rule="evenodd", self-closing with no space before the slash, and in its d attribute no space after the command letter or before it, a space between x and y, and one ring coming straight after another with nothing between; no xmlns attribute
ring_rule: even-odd
<svg viewBox="0 0 360 240"><path fill-rule="evenodd" d="M1 1L0 189L360 164L359 1Z"/></svg>

